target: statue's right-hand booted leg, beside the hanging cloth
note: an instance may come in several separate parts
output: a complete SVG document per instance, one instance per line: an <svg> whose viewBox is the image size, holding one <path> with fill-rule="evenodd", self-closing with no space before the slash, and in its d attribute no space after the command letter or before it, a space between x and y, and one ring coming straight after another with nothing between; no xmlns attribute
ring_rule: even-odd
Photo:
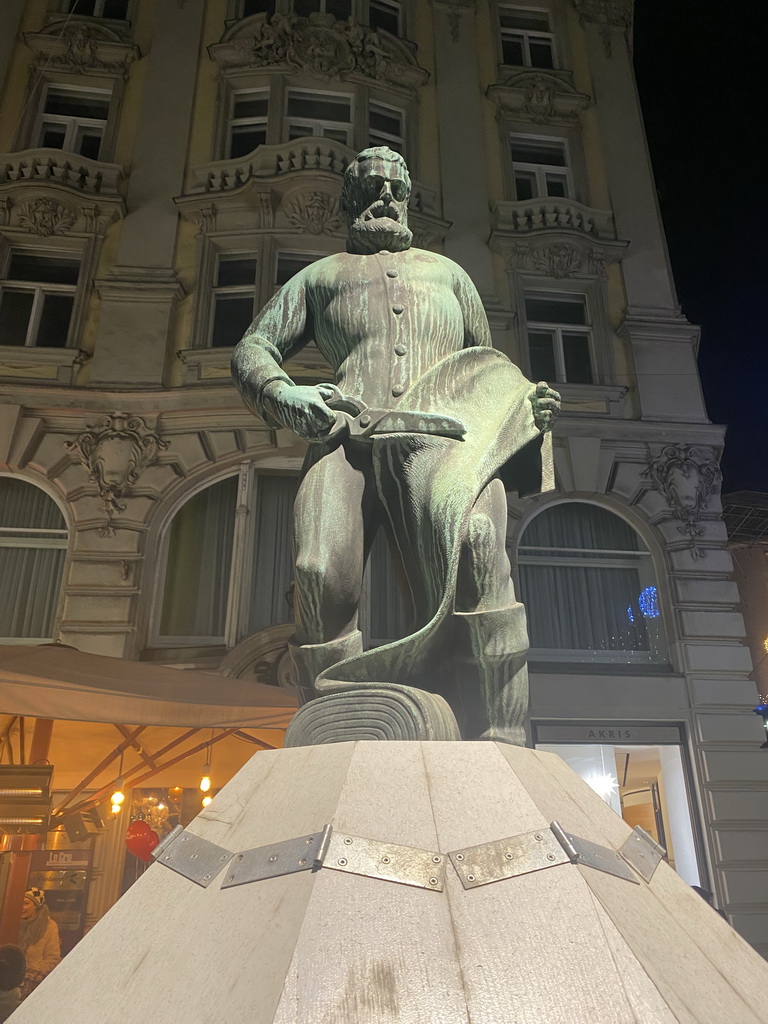
<svg viewBox="0 0 768 1024"><path fill-rule="evenodd" d="M461 554L454 616L456 699L466 738L524 745L528 635L510 575L506 534L504 485L492 480L472 510Z"/></svg>

